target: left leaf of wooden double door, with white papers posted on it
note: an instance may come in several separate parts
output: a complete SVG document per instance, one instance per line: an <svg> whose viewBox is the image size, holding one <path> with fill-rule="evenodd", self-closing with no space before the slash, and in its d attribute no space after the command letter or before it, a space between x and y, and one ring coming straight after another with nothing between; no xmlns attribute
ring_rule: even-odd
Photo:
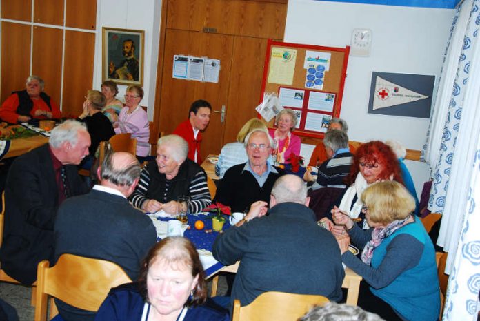
<svg viewBox="0 0 480 321"><path fill-rule="evenodd" d="M227 105L233 37L225 34L207 34L187 30L166 30L165 54L163 55L163 79L160 104L160 130L170 134L188 118L193 101L205 99L212 105L210 125L203 132L202 157L218 153L223 146L224 123L221 114L214 112ZM218 83L203 83L172 78L174 54L208 56L220 59L221 70Z"/></svg>

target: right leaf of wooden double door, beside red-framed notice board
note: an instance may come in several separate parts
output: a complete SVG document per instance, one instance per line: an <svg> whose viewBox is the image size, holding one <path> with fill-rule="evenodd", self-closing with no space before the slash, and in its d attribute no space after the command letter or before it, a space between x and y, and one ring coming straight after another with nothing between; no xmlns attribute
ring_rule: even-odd
<svg viewBox="0 0 480 321"><path fill-rule="evenodd" d="M235 37L223 143L236 141L240 128L257 117L267 40Z"/></svg>

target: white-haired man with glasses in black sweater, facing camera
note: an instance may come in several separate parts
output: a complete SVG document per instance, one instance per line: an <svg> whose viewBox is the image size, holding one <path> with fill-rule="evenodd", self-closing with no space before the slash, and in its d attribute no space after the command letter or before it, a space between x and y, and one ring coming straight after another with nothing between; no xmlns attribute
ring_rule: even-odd
<svg viewBox="0 0 480 321"><path fill-rule="evenodd" d="M220 180L213 202L228 205L232 211L246 211L257 200L270 199L275 180L283 169L267 162L273 140L266 130L254 130L245 138L248 162L230 167Z"/></svg>

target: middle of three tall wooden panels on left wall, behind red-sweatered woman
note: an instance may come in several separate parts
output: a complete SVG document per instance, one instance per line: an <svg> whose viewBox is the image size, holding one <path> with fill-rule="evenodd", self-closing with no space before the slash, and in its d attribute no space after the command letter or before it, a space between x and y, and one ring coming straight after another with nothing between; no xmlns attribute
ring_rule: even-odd
<svg viewBox="0 0 480 321"><path fill-rule="evenodd" d="M61 91L62 42L62 30L33 27L32 74L37 74L45 81L45 92L58 104Z"/></svg>

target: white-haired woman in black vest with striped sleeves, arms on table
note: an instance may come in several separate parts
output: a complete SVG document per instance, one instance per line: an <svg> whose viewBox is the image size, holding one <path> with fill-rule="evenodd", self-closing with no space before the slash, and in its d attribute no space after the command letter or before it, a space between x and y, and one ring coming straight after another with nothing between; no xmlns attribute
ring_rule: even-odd
<svg viewBox="0 0 480 321"><path fill-rule="evenodd" d="M203 169L188 156L188 143L178 135L159 138L157 158L140 174L130 201L148 213L166 211L177 214L177 197L190 196L189 212L199 213L212 203Z"/></svg>

